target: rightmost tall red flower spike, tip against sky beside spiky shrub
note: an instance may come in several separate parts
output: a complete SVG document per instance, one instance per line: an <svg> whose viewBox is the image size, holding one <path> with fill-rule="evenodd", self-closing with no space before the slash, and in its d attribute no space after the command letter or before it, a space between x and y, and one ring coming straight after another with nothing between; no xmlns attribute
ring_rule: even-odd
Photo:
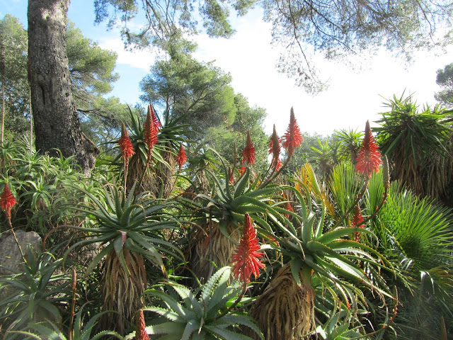
<svg viewBox="0 0 453 340"><path fill-rule="evenodd" d="M355 171L363 174L367 179L374 171L379 171L379 166L382 164L381 153L369 128L369 121L365 125L365 137L356 162Z"/></svg>

